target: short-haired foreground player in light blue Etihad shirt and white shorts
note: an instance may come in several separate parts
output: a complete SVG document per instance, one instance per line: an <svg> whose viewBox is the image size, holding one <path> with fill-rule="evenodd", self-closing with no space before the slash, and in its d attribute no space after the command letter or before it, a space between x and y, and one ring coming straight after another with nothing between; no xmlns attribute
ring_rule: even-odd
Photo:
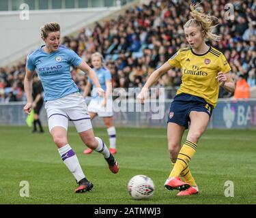
<svg viewBox="0 0 256 218"><path fill-rule="evenodd" d="M94 70L85 61L82 61L74 51L59 45L60 27L57 22L46 23L41 28L41 37L45 45L27 57L24 80L27 104L24 110L29 113L32 108L32 78L34 70L37 69L44 87L49 131L58 147L61 159L79 183L79 187L74 192L89 191L94 185L85 177L79 160L70 144L68 144L68 121L73 121L76 131L90 149L102 153L109 164L111 172L117 173L119 166L117 160L109 153L109 149L107 149L104 142L100 138L94 137L87 105L72 80L70 65L74 65L84 72L89 72L89 77L96 84L98 95L104 96L104 90L100 87Z"/></svg>

